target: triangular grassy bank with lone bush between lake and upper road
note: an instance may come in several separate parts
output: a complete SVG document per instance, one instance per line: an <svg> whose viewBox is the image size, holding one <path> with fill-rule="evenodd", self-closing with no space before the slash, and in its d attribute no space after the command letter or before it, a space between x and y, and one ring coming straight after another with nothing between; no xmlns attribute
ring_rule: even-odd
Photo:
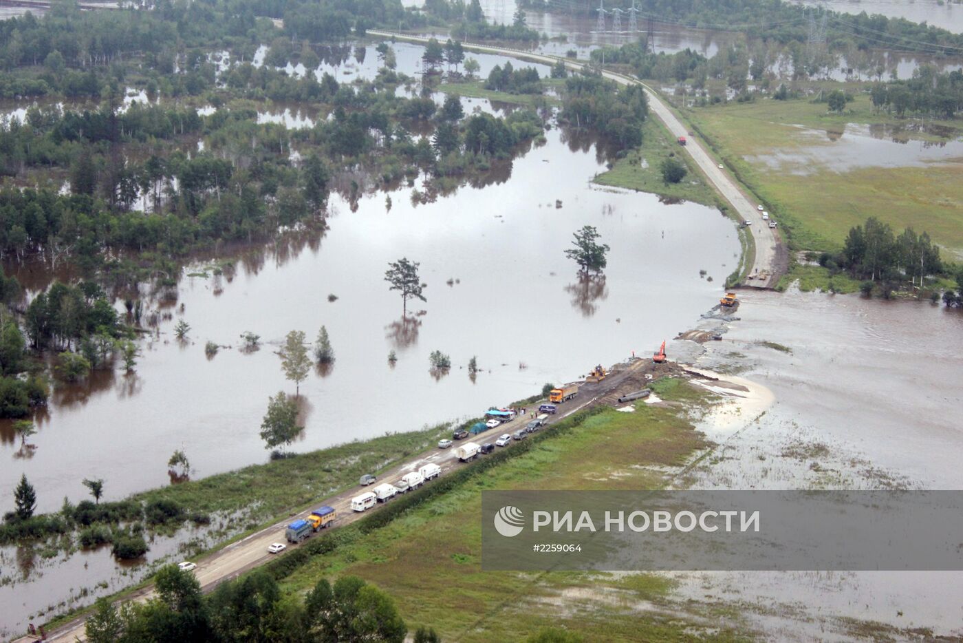
<svg viewBox="0 0 963 643"><path fill-rule="evenodd" d="M686 163L689 174L679 183L666 183L660 167L670 155ZM650 116L642 127L642 146L631 150L625 158L616 159L612 170L595 177L601 185L657 194L664 199L695 201L716 206L716 193L695 168L688 154L681 153L678 143L668 136L662 122Z"/></svg>

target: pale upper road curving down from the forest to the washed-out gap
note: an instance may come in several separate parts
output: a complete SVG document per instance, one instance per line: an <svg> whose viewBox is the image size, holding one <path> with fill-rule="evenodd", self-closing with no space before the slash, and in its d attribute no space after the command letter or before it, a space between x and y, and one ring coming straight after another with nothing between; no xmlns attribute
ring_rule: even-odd
<svg viewBox="0 0 963 643"><path fill-rule="evenodd" d="M424 36L411 36L409 34L378 31L374 29L369 29L368 34L381 38L394 38L418 43L426 43L429 40ZM472 51L501 54L503 56L511 56L513 58L546 65L555 65L561 61L565 67L572 70L578 70L584 67L584 63L576 63L570 59L561 58L560 56L538 54L522 49L479 44L476 42L462 42L461 45L465 49ZM782 251L782 243L778 233L774 228L768 227L768 221L763 220L763 212L758 208L759 203L749 200L739 186L739 183L730 176L724 168L718 167L718 163L709 152L706 151L706 148L693 138L685 124L676 117L671 108L669 108L662 98L648 85L639 81L637 78L615 73L614 71L603 71L603 75L621 85L640 85L648 96L649 107L652 113L655 114L660 121L663 121L665 127L672 133L672 136L676 138L680 136L686 137L687 144L685 147L680 146L680 149L685 149L689 153L692 160L699 167L699 170L702 171L702 174L704 174L716 188L716 192L729 202L735 212L741 217L742 221L747 221L750 224L748 228L751 232L753 243L755 244L756 253L753 265L749 270L749 279L745 280L742 285L757 288L773 287L786 270L785 253Z"/></svg>

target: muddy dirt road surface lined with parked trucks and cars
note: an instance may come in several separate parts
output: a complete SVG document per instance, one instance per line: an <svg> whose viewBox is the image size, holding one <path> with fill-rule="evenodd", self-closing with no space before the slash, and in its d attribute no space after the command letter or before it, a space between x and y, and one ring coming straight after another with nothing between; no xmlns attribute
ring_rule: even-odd
<svg viewBox="0 0 963 643"><path fill-rule="evenodd" d="M553 424L587 407L600 404L614 404L620 394L644 387L644 383L647 381L646 375L657 377L664 374L679 374L681 372L681 367L674 362L654 364L651 360L637 359L633 362L616 364L605 380L594 384L583 384L575 399L558 405L559 413L549 418L546 430L551 430ZM495 439L503 433L513 433L518 429L524 428L527 421L528 418L524 415L516 417L472 440L475 442L494 442ZM511 448L514 444L515 442L511 442L504 448ZM440 475L442 476L449 474L457 468L471 466L470 464L465 465L457 460L454 448L435 448L419 454L414 459L398 467L379 472L378 483L394 482L405 473L420 469L429 463L437 465L441 469ZM427 482L426 484L430 485L431 482ZM351 511L351 498L360 495L364 491L364 488L355 487L338 496L320 498L314 508L323 505L334 507L337 512L337 519L332 528L351 524L351 522L361 520L361 518L368 515L371 511L377 511L377 507L364 513ZM248 570L268 562L272 558L272 554L268 553L268 547L273 543L284 543L284 530L288 523L298 519L304 519L308 514L310 514L310 510L303 511L297 515L292 514L283 521L275 522L206 558L196 560L197 568L194 574L200 582L203 591L210 592L221 584L221 582L237 578ZM290 543L287 545L290 549L298 547ZM147 586L127 597L125 601L144 602L153 597L153 588ZM67 641L83 641L85 636L85 620L86 617L78 617L59 630L48 632L46 640L62 641L64 643ZM38 637L25 636L17 639L14 643L29 643L36 640L39 640Z"/></svg>

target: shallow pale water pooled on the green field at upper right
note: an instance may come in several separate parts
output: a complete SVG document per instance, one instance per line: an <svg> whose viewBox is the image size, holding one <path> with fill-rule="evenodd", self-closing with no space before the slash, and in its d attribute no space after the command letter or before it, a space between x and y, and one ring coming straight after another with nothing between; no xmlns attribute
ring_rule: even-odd
<svg viewBox="0 0 963 643"><path fill-rule="evenodd" d="M921 140L909 127L847 123L843 132L802 128L800 136L812 145L774 149L747 157L751 163L791 174L814 174L820 168L849 172L857 168L927 167L958 164L963 158L963 138L956 130L941 132L951 138ZM923 128L924 133L926 128Z"/></svg>

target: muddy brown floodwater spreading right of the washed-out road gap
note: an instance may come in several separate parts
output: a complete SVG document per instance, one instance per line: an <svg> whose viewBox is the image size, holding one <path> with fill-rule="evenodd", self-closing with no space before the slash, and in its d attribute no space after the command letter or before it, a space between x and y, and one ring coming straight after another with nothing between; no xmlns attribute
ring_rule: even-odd
<svg viewBox="0 0 963 643"><path fill-rule="evenodd" d="M963 314L791 289L742 291L740 321L699 363L742 364L774 403L741 430L707 422L720 446L696 489L961 489ZM770 341L791 354L759 342ZM742 428L745 426L745 428ZM852 617L963 635L961 573L673 575L682 599L748 606L768 638L834 640ZM754 615L752 615L754 614Z"/></svg>

